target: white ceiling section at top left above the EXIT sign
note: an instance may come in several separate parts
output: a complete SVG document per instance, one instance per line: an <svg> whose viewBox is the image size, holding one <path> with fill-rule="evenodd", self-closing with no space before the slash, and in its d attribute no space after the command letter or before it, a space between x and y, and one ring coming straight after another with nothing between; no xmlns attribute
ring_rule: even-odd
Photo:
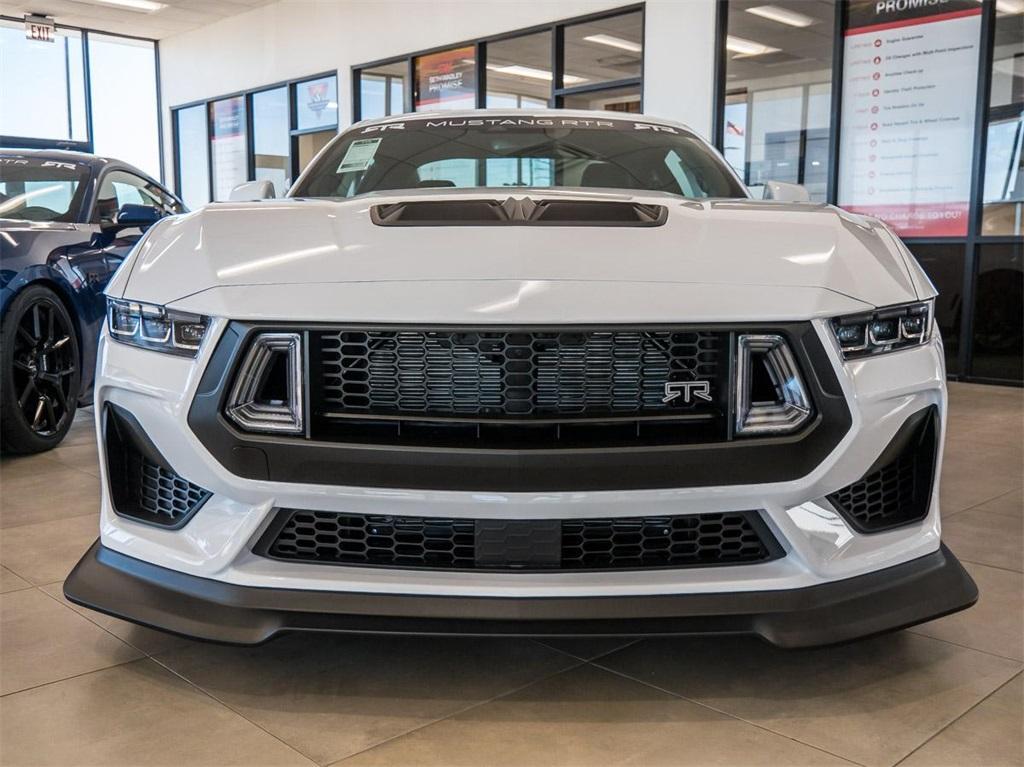
<svg viewBox="0 0 1024 767"><path fill-rule="evenodd" d="M146 12L104 5L98 0L7 0L5 16L26 13L53 16L58 25L135 37L161 39L245 13L274 0L160 0L167 7Z"/></svg>

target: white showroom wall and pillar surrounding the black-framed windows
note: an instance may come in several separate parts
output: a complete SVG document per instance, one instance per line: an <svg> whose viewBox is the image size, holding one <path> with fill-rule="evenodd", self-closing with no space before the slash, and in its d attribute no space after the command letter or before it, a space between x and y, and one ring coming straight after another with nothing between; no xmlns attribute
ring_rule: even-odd
<svg viewBox="0 0 1024 767"><path fill-rule="evenodd" d="M168 181L170 108L390 56L629 5L629 0L281 0L160 42ZM715 0L647 0L644 111L711 132Z"/></svg>

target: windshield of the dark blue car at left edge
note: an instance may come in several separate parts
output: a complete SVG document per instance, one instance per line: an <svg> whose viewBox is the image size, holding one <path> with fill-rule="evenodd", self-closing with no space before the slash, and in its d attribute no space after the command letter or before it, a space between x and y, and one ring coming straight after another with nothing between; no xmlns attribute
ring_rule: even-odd
<svg viewBox="0 0 1024 767"><path fill-rule="evenodd" d="M74 223L88 176L76 163L0 158L0 218Z"/></svg>

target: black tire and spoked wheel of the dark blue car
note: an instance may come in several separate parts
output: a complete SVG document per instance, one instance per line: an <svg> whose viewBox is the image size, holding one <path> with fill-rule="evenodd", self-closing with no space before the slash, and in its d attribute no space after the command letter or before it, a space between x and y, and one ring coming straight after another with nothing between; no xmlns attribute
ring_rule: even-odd
<svg viewBox="0 0 1024 767"><path fill-rule="evenodd" d="M57 295L22 291L0 326L0 449L42 453L60 443L78 407L78 338Z"/></svg>

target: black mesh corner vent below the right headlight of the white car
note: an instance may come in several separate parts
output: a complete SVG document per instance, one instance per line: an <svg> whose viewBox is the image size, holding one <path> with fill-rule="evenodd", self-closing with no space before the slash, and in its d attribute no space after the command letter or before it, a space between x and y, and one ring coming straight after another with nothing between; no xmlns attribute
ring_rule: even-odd
<svg viewBox="0 0 1024 767"><path fill-rule="evenodd" d="M934 408L911 417L864 477L828 500L861 532L924 519L931 506L937 434Z"/></svg>

